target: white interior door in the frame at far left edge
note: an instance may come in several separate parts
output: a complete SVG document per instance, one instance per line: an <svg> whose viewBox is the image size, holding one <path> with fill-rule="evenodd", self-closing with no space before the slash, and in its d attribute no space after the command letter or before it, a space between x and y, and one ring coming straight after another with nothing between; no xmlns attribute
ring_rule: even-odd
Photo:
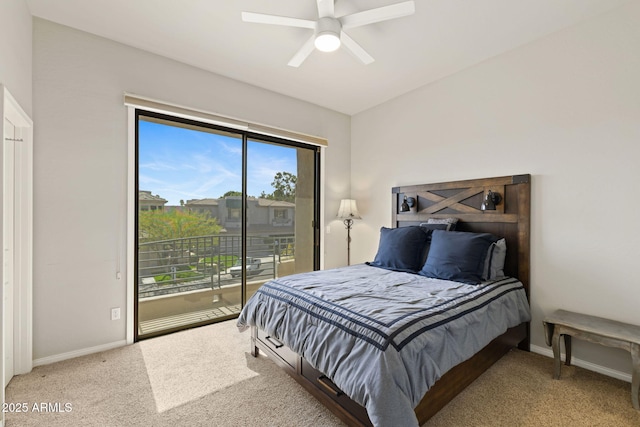
<svg viewBox="0 0 640 427"><path fill-rule="evenodd" d="M3 143L3 250L2 250L2 324L3 364L6 387L13 377L13 276L14 276L14 195L15 127L6 118Z"/></svg>

